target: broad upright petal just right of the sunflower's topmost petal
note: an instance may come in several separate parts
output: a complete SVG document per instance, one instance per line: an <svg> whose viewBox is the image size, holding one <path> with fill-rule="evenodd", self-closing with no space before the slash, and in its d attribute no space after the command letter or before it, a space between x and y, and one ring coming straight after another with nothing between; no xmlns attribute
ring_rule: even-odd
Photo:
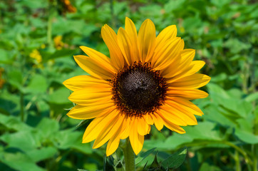
<svg viewBox="0 0 258 171"><path fill-rule="evenodd" d="M149 61L153 56L155 49L155 25L150 19L146 19L138 33L138 45L140 51L140 60L145 62Z"/></svg>

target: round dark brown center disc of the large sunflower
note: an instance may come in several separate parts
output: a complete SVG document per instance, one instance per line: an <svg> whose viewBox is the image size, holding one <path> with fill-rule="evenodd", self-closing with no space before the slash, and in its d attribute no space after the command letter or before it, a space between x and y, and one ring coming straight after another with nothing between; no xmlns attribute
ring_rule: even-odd
<svg viewBox="0 0 258 171"><path fill-rule="evenodd" d="M119 71L111 81L113 100L128 115L153 113L165 99L165 79L150 63L134 63Z"/></svg>

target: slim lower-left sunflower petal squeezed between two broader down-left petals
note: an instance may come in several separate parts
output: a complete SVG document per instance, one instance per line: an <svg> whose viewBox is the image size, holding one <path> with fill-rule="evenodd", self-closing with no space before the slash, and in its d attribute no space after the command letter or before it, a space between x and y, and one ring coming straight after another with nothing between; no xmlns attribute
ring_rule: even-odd
<svg viewBox="0 0 258 171"><path fill-rule="evenodd" d="M102 130L101 134L98 135L98 137L96 138L93 144L93 148L98 148L102 146L103 144L105 144L105 142L110 140L110 138L113 137L113 135L115 135L115 133L117 133L118 130L120 130L121 124L123 123L125 115L116 114L116 113L119 113L118 110L113 110L113 111L115 112L115 115L117 115L117 117L114 118L108 125L103 125L103 128L101 128ZM110 115L113 115L113 113L110 113Z"/></svg>

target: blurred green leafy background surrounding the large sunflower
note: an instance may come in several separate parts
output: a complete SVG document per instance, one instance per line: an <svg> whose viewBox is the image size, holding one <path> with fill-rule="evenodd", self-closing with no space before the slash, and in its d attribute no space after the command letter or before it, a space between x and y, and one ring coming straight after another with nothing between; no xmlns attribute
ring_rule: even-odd
<svg viewBox="0 0 258 171"><path fill-rule="evenodd" d="M125 16L137 28L145 19L157 31L177 25L212 77L209 98L194 101L205 113L199 124L185 135L153 128L138 170L151 165L153 147L160 161L185 146L177 170L257 170L257 9L247 0L0 1L0 170L103 170L105 147L81 144L87 124L66 116L73 104L62 82L86 74L72 58L78 46L108 55L100 28L117 31ZM114 157L123 159L120 150Z"/></svg>

